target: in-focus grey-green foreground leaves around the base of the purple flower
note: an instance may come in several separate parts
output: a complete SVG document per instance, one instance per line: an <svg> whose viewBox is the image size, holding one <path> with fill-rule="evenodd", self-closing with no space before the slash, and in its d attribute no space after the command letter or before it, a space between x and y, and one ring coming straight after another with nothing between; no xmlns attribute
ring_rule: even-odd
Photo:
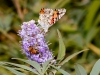
<svg viewBox="0 0 100 75"><path fill-rule="evenodd" d="M17 60L20 60L22 62L25 62L25 63L29 64L30 67L26 66L26 65L14 64L14 63L10 63L10 62L0 62L0 66L10 70L11 72L13 72L16 75L26 75L25 73L22 73L23 70L30 71L30 72L32 72L34 74L37 74L37 75L45 75L45 74L49 75L50 72L52 72L52 74L50 74L50 75L55 75L56 72L57 72L56 70L58 70L63 75L70 75L68 72L64 71L60 67L62 65L64 65L66 62L68 62L70 59L72 59L75 55L77 55L77 54L79 54L83 51L86 51L86 50L82 50L80 52L74 53L74 54L70 55L69 57L63 59L62 55L64 55L65 53L61 52L61 51L62 50L65 51L65 46L63 44L63 40L61 38L61 34L60 34L59 31L58 31L58 37L59 37L59 46L60 47L59 47L59 53L58 53L58 58L57 59L59 59L59 58L60 59L59 59L58 62L56 62L56 64L54 64L54 62L52 63L52 60L48 60L43 64L39 64L39 63L37 63L35 61L31 61L31 60L24 60L24 59L14 58L14 59L17 59ZM61 52L61 54L60 54L60 52ZM100 73L100 68L98 67L98 66L100 66L99 63L100 63L100 59L95 63L90 75L94 75L94 74L97 75L97 74ZM9 65L15 66L15 68L11 67ZM54 69L50 70L50 67L53 67ZM47 70L48 70L48 73L47 73ZM76 75L87 75L85 69L79 64L75 65L75 70L76 70Z"/></svg>

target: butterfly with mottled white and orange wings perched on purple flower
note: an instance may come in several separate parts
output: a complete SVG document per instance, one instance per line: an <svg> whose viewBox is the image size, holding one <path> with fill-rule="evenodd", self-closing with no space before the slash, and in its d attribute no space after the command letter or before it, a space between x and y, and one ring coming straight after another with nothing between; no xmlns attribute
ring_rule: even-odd
<svg viewBox="0 0 100 75"><path fill-rule="evenodd" d="M40 10L38 23L44 29L44 32L48 32L48 29L56 23L64 14L66 9L45 9Z"/></svg>

